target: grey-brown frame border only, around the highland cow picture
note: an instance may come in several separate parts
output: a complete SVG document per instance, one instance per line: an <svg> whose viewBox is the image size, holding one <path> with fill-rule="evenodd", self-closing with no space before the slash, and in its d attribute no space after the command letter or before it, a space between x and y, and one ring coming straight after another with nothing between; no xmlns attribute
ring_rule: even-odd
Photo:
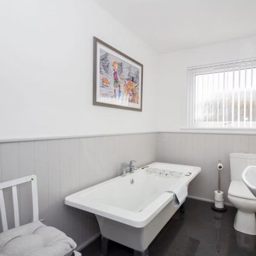
<svg viewBox="0 0 256 256"><path fill-rule="evenodd" d="M108 104L103 102L97 102L97 44L102 44L103 46L111 49L113 52L116 52L119 55L122 55L122 57L127 58L129 61L134 62L138 66L141 67L141 84L140 84L140 108L132 108L132 107L126 107L122 105L114 105L114 104ZM93 105L96 106L102 106L102 107L108 107L108 108L119 108L119 109L126 109L126 110L132 110L132 111L142 111L142 105L143 105L143 64L140 62L134 60L133 58L129 57L128 55L124 54L123 52L119 51L118 49L112 47L111 45L105 43L104 41L100 40L99 38L93 37Z"/></svg>

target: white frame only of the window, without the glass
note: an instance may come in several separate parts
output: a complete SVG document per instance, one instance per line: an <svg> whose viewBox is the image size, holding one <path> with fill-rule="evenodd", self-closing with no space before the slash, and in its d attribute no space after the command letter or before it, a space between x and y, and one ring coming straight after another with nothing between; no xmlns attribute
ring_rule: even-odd
<svg viewBox="0 0 256 256"><path fill-rule="evenodd" d="M187 127L188 129L233 129L256 130L256 122L195 122L195 76L211 72L233 71L256 67L256 58L239 61L222 62L218 64L204 65L187 68Z"/></svg>

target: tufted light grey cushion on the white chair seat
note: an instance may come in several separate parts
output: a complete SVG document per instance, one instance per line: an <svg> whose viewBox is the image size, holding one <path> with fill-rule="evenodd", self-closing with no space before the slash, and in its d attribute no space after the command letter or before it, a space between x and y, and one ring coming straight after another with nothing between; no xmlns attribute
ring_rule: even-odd
<svg viewBox="0 0 256 256"><path fill-rule="evenodd" d="M75 248L71 238L40 221L0 233L0 256L70 256Z"/></svg>

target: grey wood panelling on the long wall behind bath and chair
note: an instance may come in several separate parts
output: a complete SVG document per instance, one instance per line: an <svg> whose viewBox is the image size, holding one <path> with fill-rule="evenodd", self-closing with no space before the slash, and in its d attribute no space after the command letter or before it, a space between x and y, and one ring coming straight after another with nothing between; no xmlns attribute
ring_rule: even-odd
<svg viewBox="0 0 256 256"><path fill-rule="evenodd" d="M157 133L145 133L0 143L0 182L35 174L39 218L65 232L81 248L99 235L96 218L66 206L64 198L120 175L123 162L137 160L140 167L156 161L157 140ZM6 202L11 201L10 190L4 196ZM32 217L27 184L18 188L18 197L20 222L25 224ZM12 209L6 204L9 227L14 227Z"/></svg>

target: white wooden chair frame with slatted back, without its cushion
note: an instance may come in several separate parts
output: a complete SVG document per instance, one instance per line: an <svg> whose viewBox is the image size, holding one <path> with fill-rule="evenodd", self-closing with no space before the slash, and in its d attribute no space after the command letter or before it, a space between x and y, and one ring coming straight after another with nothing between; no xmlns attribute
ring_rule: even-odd
<svg viewBox="0 0 256 256"><path fill-rule="evenodd" d="M15 228L20 227L17 185L27 183L27 182L31 183L31 188L32 188L32 209L33 209L33 219L32 219L32 221L38 221L39 220L38 191L37 191L37 178L36 178L36 176L35 175L29 175L29 176L26 176L26 177L15 179L15 180L9 180L9 181L0 183L0 213L1 213L1 219L2 219L3 232L8 230L8 223L7 223L7 217L6 217L6 207L5 207L4 197L3 197L3 189L12 187ZM81 253L79 253L77 251L73 251L73 256L81 256Z"/></svg>

